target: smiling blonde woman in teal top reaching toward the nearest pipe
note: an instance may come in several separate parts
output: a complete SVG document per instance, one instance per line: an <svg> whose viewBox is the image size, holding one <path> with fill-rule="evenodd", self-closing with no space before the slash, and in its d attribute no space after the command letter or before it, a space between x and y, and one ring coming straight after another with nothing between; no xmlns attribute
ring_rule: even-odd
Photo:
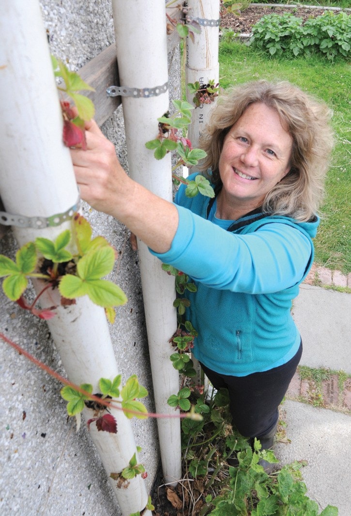
<svg viewBox="0 0 351 516"><path fill-rule="evenodd" d="M289 83L223 95L203 138L213 200L187 198L181 186L172 204L136 184L94 122L87 152L72 150L82 198L197 284L187 314L199 333L195 357L215 388L228 389L239 432L265 449L302 353L290 309L313 261L329 119Z"/></svg>

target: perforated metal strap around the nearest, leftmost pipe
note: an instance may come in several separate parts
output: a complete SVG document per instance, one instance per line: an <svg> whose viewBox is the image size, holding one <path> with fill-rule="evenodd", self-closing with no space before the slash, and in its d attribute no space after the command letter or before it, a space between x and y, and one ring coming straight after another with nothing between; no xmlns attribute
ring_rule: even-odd
<svg viewBox="0 0 351 516"><path fill-rule="evenodd" d="M68 208L64 213L57 213L50 217L26 217L24 215L13 215L7 212L0 212L0 224L14 225L17 228L51 228L61 225L66 220L72 219L73 215L80 207L80 196L78 196L76 204Z"/></svg>

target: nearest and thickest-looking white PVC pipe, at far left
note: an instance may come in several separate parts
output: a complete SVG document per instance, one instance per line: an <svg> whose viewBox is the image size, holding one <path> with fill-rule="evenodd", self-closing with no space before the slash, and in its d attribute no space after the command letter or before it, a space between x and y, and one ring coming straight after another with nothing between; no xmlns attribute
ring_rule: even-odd
<svg viewBox="0 0 351 516"><path fill-rule="evenodd" d="M0 37L0 191L5 208L28 217L63 213L75 204L78 192L62 143L62 115L39 3L2 2ZM69 227L67 221L43 230L13 229L22 246L37 236L54 239ZM37 292L42 287L37 284ZM57 304L57 297L56 291L46 291L42 305ZM93 392L99 392L100 377L112 380L118 374L104 311L87 297L59 307L48 326L71 381L92 383ZM136 452L130 421L121 411L111 412L117 434L98 432L91 425L108 477L121 472ZM92 414L84 409L85 417ZM109 479L124 516L145 508L148 497L140 475L127 489L118 489ZM150 516L151 511L143 514Z"/></svg>

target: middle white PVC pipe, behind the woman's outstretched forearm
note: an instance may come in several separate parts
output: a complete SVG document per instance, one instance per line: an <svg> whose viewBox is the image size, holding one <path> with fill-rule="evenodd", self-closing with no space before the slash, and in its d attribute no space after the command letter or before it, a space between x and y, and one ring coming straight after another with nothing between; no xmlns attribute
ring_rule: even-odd
<svg viewBox="0 0 351 516"><path fill-rule="evenodd" d="M113 0L112 6L120 85L138 89L164 85L168 80L164 0ZM168 110L168 91L150 98L122 97L122 106L131 177L172 201L170 155L157 161L145 147L157 136L157 118ZM138 249L156 411L174 414L167 405L168 397L179 391L179 375L169 359L173 348L168 343L177 328L174 278L161 269L161 262L141 241ZM181 478L180 421L159 419L157 424L165 481L177 482Z"/></svg>

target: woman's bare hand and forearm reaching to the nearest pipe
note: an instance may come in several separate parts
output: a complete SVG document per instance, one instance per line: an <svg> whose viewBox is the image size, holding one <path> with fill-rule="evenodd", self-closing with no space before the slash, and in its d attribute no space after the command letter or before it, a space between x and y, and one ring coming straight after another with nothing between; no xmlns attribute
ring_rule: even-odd
<svg viewBox="0 0 351 516"><path fill-rule="evenodd" d="M120 220L155 252L168 251L178 228L176 206L126 174L94 120L85 123L85 137L85 151L71 149L82 199Z"/></svg>

